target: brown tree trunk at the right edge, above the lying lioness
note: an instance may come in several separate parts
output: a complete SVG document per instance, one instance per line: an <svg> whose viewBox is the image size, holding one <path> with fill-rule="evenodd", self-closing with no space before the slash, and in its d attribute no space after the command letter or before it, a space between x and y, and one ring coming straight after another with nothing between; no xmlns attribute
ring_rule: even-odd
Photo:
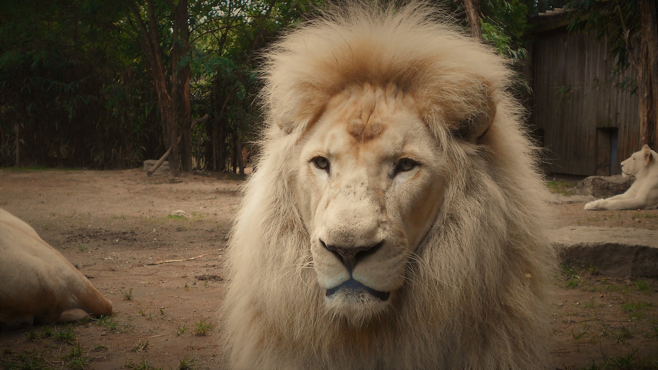
<svg viewBox="0 0 658 370"><path fill-rule="evenodd" d="M658 30L654 0L640 2L642 32L638 68L640 138L652 149L658 147Z"/></svg>

